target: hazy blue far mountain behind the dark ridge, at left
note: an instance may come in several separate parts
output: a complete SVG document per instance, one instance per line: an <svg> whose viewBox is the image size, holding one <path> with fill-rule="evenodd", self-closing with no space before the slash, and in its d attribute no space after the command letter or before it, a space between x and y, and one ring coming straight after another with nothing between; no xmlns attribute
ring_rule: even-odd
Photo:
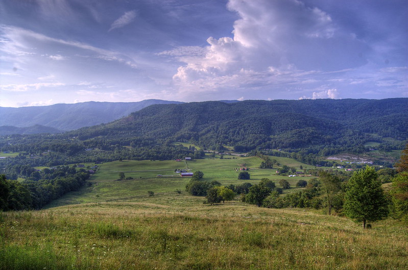
<svg viewBox="0 0 408 270"><path fill-rule="evenodd" d="M10 128L42 125L67 131L85 126L109 123L152 104L181 103L148 99L139 102L82 102L75 104L54 104L50 106L0 107L0 134L8 134ZM24 129L15 129L18 134ZM53 132L53 131L49 131Z"/></svg>

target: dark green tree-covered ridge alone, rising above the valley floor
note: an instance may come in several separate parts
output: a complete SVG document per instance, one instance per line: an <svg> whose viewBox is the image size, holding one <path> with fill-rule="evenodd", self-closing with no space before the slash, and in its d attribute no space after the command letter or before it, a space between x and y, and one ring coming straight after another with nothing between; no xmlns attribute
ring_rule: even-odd
<svg viewBox="0 0 408 270"><path fill-rule="evenodd" d="M83 140L147 137L203 147L357 146L408 138L408 99L247 100L157 104L127 117L71 132Z"/></svg>

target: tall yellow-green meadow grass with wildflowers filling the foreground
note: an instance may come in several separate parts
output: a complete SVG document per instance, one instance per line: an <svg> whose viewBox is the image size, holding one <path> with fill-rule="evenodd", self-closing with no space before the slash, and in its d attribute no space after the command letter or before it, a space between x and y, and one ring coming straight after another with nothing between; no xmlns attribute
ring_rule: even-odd
<svg viewBox="0 0 408 270"><path fill-rule="evenodd" d="M408 230L297 209L102 203L3 213L0 269L404 269ZM42 259L43 258L43 259Z"/></svg>

